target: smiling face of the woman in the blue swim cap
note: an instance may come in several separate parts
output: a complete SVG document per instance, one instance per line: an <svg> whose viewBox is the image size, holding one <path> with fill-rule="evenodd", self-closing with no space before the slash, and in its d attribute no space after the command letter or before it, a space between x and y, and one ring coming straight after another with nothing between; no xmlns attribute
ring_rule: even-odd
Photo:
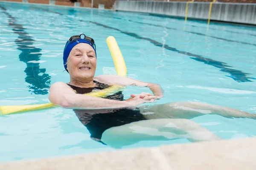
<svg viewBox="0 0 256 170"><path fill-rule="evenodd" d="M77 44L67 59L67 70L73 79L93 79L96 71L96 54L86 43Z"/></svg>

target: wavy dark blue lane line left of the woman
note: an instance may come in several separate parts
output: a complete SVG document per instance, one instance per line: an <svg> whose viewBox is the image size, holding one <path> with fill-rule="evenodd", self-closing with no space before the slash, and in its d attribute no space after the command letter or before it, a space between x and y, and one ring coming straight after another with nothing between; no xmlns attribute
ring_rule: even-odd
<svg viewBox="0 0 256 170"><path fill-rule="evenodd" d="M16 23L16 18L12 17L12 15L7 12L6 8L0 5L0 9L8 17L9 26L12 28L12 31L18 34L15 43L17 49L21 51L19 55L20 61L26 63L24 72L26 73L25 81L30 84L28 86L29 91L34 94L48 94L51 77L49 74L45 74L46 69L40 68L39 63L30 62L40 60L42 55L40 51L42 49L32 46L35 40L25 31L26 28Z"/></svg>

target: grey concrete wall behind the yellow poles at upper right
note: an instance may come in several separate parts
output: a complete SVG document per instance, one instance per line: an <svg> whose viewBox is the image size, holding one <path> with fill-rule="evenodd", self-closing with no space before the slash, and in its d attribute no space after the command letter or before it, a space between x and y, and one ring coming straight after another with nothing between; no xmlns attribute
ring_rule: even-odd
<svg viewBox="0 0 256 170"><path fill-rule="evenodd" d="M208 19L210 3L189 3L188 18ZM116 10L185 17L186 2L116 1ZM211 20L256 25L256 4L213 3Z"/></svg>

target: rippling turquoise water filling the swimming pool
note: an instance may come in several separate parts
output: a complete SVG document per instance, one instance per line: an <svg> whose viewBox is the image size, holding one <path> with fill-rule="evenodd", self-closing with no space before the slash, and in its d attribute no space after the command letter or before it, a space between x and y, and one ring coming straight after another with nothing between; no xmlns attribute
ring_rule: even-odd
<svg viewBox="0 0 256 170"><path fill-rule="evenodd" d="M148 14L0 2L0 105L48 102L48 89L68 82L62 51L85 33L97 45L97 71L115 74L106 45L114 36L128 77L162 85L156 104L200 101L256 113L256 28ZM130 94L149 92L128 87ZM256 120L205 115L192 119L223 139L256 136ZM114 140L114 139L113 139ZM130 147L187 143L140 141ZM0 161L114 150L90 139L72 110L54 108L0 116Z"/></svg>

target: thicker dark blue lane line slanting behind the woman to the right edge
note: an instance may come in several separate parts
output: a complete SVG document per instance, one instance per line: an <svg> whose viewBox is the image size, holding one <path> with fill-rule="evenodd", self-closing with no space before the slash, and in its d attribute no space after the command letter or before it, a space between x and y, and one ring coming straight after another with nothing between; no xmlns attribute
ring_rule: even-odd
<svg viewBox="0 0 256 170"><path fill-rule="evenodd" d="M46 9L41 9L41 10L51 12L49 9L47 9L47 10ZM56 12L54 12L54 13L56 13ZM58 14L64 15L64 14L61 14L59 12L58 12ZM157 42L157 41L152 40L150 38L141 37L138 34L127 32L127 31L122 31L122 30L119 30L117 28L113 28L111 26L107 26L107 25L104 25L104 24L101 24L101 23L96 23L96 22L89 21L89 20L79 20L79 21L80 22L86 22L86 23L93 23L97 26L102 26L104 28L109 28L109 29L112 29L112 30L116 30L116 31L119 31L119 32L121 32L123 34L126 34L128 36L131 36L131 37L134 37L134 38L137 38L137 39L140 39L140 40L149 41L157 47L165 48L166 50L169 50L169 51L174 51L174 52L177 52L177 53L180 53L180 54L187 55L187 56L189 56L189 58L194 59L198 62L203 62L204 64L212 65L216 68L220 68L220 71L225 72L225 73L229 73L230 76L228 76L228 75L226 75L226 76L234 79L236 82L253 82L250 79L256 79L254 77L247 77L247 75L250 75L250 74L244 73L243 71L240 71L240 70L233 69L230 65L227 65L227 63L225 63L225 62L216 61L216 60L213 60L213 59L210 59L210 58L207 58L207 57L203 57L203 56L198 55L198 54L192 54L192 53L189 53L189 52L186 52L186 51L180 51L180 50L177 50L176 48L170 47L169 45L166 45L166 44L163 45L161 42Z"/></svg>

